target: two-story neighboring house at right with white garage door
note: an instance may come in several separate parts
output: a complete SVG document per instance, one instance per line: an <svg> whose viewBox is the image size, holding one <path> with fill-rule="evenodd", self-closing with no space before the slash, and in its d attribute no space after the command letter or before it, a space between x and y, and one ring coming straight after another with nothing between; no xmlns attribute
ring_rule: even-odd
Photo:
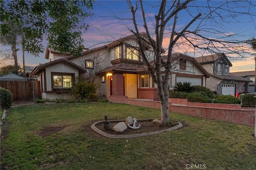
<svg viewBox="0 0 256 170"><path fill-rule="evenodd" d="M224 53L195 58L211 75L206 87L217 95L233 95L248 91L249 79L232 76L229 73L232 63Z"/></svg>

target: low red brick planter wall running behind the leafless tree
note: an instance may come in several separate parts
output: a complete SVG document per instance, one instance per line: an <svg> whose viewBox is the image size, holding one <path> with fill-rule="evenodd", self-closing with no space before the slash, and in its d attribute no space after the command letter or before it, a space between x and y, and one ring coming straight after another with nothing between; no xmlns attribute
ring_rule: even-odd
<svg viewBox="0 0 256 170"><path fill-rule="evenodd" d="M142 107L160 109L160 101L145 101L143 99L127 99L126 96L110 96L109 101L113 103L126 103ZM169 110L171 112L214 119L243 125L254 126L255 108L241 108L241 105L217 104L217 103L193 103L187 99L169 99Z"/></svg>

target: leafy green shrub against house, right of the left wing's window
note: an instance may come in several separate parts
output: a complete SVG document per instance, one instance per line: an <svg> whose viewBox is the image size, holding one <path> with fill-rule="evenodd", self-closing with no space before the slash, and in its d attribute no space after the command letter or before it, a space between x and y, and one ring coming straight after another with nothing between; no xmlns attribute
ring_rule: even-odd
<svg viewBox="0 0 256 170"><path fill-rule="evenodd" d="M77 81L73 83L71 88L71 94L74 95L76 99L88 99L92 101L97 98L96 90L98 86L92 82L86 82L82 77L78 77Z"/></svg>

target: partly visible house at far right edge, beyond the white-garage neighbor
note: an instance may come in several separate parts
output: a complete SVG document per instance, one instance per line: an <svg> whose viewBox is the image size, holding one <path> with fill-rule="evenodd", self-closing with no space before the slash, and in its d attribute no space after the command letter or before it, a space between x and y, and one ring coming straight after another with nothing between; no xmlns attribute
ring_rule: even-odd
<svg viewBox="0 0 256 170"><path fill-rule="evenodd" d="M230 75L234 75L237 77L243 77L246 79L251 80L252 82L249 82L249 93L255 92L255 71L240 71L240 72L233 72L230 73Z"/></svg>

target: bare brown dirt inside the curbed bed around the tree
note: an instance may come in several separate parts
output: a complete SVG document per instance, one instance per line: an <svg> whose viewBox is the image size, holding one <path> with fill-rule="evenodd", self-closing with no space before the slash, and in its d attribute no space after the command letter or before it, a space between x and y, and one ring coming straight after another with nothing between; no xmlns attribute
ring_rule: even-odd
<svg viewBox="0 0 256 170"><path fill-rule="evenodd" d="M95 122L94 122L95 123ZM156 127L153 125L152 121L138 121L138 123L136 123L136 126L140 125L141 127L138 129L131 129L131 128L127 128L126 130L124 130L124 132L122 133L117 133L114 130L112 130L112 128L119 122L111 122L110 123L110 130L105 130L103 127L103 123L98 123L95 125L96 128L102 130L103 132L107 133L107 134L111 134L111 135L130 135L130 134L141 134L141 133L148 133L148 132L156 132L156 131L160 131L160 130L166 130L168 128L174 127L175 125L172 126L159 126ZM92 125L93 123L91 123L90 125ZM87 126L88 128L88 126ZM93 131L94 132L94 131ZM94 134L97 132L94 132Z"/></svg>

